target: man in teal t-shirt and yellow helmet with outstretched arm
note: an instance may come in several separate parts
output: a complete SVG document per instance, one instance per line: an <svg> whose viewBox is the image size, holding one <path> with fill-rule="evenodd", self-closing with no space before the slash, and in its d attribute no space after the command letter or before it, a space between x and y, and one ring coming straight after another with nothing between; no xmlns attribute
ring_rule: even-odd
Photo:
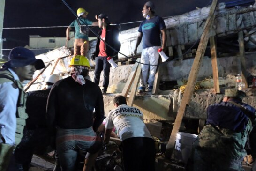
<svg viewBox="0 0 256 171"><path fill-rule="evenodd" d="M98 25L98 22L92 22L87 19L88 12L83 8L77 9L77 18L74 20L66 30L67 40L70 40L69 32L75 27L75 42L74 42L74 56L83 55L88 57L87 53L89 50L89 28L83 27L84 31L80 30L81 25Z"/></svg>

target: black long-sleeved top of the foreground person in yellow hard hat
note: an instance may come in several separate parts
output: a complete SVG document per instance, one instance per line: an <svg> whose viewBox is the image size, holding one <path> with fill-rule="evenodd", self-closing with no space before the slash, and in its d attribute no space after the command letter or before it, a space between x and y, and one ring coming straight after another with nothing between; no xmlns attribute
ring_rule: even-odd
<svg viewBox="0 0 256 171"><path fill-rule="evenodd" d="M93 109L95 120L93 122ZM104 119L104 103L100 88L86 80L82 86L69 76L53 85L50 91L46 119L48 127L84 129L93 126L97 131Z"/></svg>

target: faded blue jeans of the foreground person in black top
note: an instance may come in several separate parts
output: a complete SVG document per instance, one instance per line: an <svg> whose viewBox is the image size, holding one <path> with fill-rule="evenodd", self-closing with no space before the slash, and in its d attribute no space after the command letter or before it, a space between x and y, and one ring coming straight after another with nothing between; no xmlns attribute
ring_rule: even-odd
<svg viewBox="0 0 256 171"><path fill-rule="evenodd" d="M56 147L62 171L75 171L79 151L94 154L102 148L102 142L92 127L86 129L57 128Z"/></svg>

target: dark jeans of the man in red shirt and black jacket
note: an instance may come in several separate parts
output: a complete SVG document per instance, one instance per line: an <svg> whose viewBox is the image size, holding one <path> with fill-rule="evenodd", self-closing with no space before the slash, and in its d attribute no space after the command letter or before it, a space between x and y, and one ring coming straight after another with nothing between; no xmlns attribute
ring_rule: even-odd
<svg viewBox="0 0 256 171"><path fill-rule="evenodd" d="M95 59L95 70L94 70L94 83L97 85L99 84L100 80L100 73L103 70L103 84L102 87L104 87L105 90L107 90L108 84L109 84L109 72L110 72L110 63L107 61L107 57L101 57L98 56Z"/></svg>

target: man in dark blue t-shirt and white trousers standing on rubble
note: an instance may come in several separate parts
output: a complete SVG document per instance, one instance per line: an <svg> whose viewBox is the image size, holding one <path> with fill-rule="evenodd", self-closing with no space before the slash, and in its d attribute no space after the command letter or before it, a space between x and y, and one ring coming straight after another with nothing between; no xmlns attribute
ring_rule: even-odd
<svg viewBox="0 0 256 171"><path fill-rule="evenodd" d="M144 20L139 27L139 35L137 37L137 43L135 46L134 54L137 52L137 47L141 43L143 50L141 53L142 74L140 79L139 92L144 92L148 82L148 91L153 89L153 83L155 80L155 74L157 70L159 53L158 49L166 48L166 24L164 20L155 15L155 6L153 2L149 1L145 3L142 10ZM160 40L160 34L162 35L162 44ZM150 72L149 72L150 69ZM149 72L149 78L148 77Z"/></svg>

